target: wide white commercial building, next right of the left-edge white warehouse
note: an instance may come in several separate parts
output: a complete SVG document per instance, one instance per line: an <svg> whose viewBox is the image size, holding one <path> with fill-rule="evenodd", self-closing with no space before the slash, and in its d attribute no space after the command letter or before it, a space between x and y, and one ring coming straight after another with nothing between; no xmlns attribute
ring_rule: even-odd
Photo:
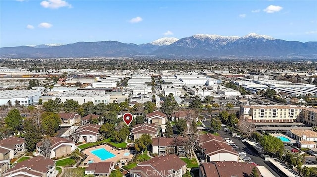
<svg viewBox="0 0 317 177"><path fill-rule="evenodd" d="M102 90L75 90L59 93L52 97L52 100L60 98L62 102L66 100L77 101L79 105L87 102L93 102L95 105L99 103L108 104L110 102L110 95Z"/></svg>

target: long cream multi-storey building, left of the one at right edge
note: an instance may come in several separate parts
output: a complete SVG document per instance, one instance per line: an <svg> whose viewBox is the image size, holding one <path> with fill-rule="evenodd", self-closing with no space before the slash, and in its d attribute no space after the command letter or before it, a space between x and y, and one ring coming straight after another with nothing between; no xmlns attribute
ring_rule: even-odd
<svg viewBox="0 0 317 177"><path fill-rule="evenodd" d="M243 105L240 119L248 122L295 122L303 107L295 105Z"/></svg>

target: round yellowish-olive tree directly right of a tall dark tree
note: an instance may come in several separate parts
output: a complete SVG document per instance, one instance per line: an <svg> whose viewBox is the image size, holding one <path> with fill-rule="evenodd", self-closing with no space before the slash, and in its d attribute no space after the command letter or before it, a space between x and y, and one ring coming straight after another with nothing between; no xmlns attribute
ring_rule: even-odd
<svg viewBox="0 0 317 177"><path fill-rule="evenodd" d="M59 128L59 125L61 124L60 116L52 112L44 112L42 113L41 118L41 125L45 134L49 136L54 136Z"/></svg>

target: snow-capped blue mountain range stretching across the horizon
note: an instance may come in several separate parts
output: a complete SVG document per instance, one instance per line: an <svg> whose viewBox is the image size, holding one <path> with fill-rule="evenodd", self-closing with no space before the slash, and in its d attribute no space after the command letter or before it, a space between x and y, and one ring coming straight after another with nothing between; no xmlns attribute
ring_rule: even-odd
<svg viewBox="0 0 317 177"><path fill-rule="evenodd" d="M128 57L151 55L170 58L253 57L317 58L317 42L274 39L250 33L243 37L196 34L181 39L161 38L147 44L118 41L41 44L0 48L1 58Z"/></svg>

